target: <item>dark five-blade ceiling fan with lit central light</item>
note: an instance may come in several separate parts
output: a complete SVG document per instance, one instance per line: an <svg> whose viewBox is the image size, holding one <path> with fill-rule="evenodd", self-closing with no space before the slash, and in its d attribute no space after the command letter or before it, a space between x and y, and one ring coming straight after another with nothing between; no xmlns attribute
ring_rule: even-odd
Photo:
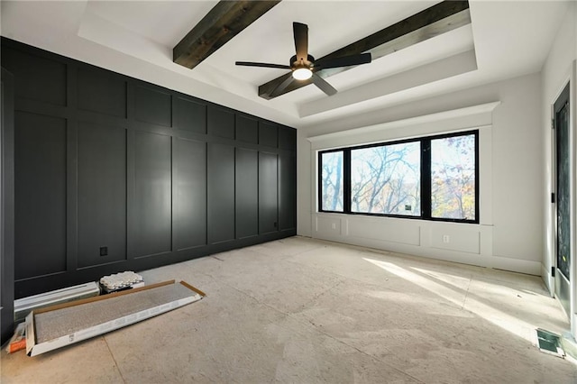
<svg viewBox="0 0 577 384"><path fill-rule="evenodd" d="M319 87L323 92L325 92L326 95L333 96L336 93L336 89L328 84L324 78L318 76L316 74L317 71L321 69L367 64L371 62L371 53L355 54L334 59L319 59L318 61L315 61L315 58L308 54L307 24L292 23L292 29L295 36L295 48L297 50L297 54L290 58L289 65L259 63L252 61L236 61L236 65L239 66L290 69L292 72L288 75L291 76L287 76L278 87L275 87L270 92L270 96L272 97L279 96L282 91L286 87L289 87L290 83L293 81L303 81L309 78L312 78L312 81L316 87Z"/></svg>

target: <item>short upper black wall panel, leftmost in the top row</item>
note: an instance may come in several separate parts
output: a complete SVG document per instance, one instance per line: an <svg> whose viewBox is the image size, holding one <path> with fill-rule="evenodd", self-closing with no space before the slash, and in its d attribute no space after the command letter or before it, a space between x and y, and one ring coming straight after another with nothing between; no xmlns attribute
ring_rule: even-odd
<svg viewBox="0 0 577 384"><path fill-rule="evenodd" d="M3 47L2 66L14 75L16 98L66 105L66 64Z"/></svg>

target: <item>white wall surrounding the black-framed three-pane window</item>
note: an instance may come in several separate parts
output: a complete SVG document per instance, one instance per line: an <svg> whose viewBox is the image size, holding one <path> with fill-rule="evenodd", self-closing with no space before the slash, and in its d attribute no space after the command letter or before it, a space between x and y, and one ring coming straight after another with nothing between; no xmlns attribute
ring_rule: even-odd
<svg viewBox="0 0 577 384"><path fill-rule="evenodd" d="M334 130L330 124L299 130L298 233L436 259L541 274L544 214L540 207L545 198L541 93L540 75L532 74L383 109L372 114L374 121L367 121L364 115L363 123L367 126L383 124L371 127L365 133L361 129L361 138L343 133L342 122L335 122L337 128ZM459 117L447 114L445 120L435 117L444 111L490 102L501 103L492 114ZM429 123L411 119L428 114L434 116L428 118ZM476 126L482 126L481 224L316 213L316 150L353 145L360 140L393 140ZM336 138L331 136L334 132L340 132ZM309 142L311 138L313 143ZM448 244L440 241L444 234L450 235Z"/></svg>

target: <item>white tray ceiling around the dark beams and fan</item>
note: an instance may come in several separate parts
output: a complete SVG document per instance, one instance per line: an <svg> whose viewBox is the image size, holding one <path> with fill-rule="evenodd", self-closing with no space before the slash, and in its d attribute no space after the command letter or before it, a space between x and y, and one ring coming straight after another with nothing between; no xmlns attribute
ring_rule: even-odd
<svg viewBox="0 0 577 384"><path fill-rule="evenodd" d="M217 1L2 1L2 35L297 128L537 72L567 9L556 1L470 1L472 23L336 74L325 96L302 87L273 100L257 88L286 73L292 22L307 23L316 58L437 1L283 0L195 69L172 48Z"/></svg>

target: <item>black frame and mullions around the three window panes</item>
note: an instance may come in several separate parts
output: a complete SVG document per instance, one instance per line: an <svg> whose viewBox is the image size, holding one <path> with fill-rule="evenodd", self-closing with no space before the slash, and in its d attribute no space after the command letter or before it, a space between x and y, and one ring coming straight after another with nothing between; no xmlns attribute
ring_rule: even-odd
<svg viewBox="0 0 577 384"><path fill-rule="evenodd" d="M475 138L475 218L474 219L454 219L444 217L433 217L432 213L432 187L431 187L431 142L438 139L446 139L450 137L469 136L474 135ZM421 167L421 215L390 215L390 214L375 214L365 212L353 212L351 201L351 151L365 148L382 147L386 145L395 145L408 142L420 142L420 167ZM329 211L323 209L323 154L329 152L343 152L343 211ZM398 217L413 220L427 220L435 222L448 223L464 223L464 224L480 224L480 179L479 179L479 130L461 131L456 133L443 133L432 136L423 136L412 139L403 139L390 142L377 142L366 145L355 145L350 147L332 148L330 150L317 152L317 212L327 214L343 214L343 215L362 215L362 216L380 216L380 217Z"/></svg>

